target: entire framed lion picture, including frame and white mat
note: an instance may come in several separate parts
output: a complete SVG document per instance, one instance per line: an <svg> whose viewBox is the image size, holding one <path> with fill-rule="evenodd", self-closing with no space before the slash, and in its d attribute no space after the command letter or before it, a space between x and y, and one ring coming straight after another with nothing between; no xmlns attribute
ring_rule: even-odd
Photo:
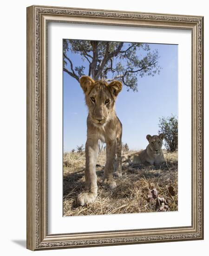
<svg viewBox="0 0 209 256"><path fill-rule="evenodd" d="M203 17L27 7L27 248L203 239Z"/></svg>

